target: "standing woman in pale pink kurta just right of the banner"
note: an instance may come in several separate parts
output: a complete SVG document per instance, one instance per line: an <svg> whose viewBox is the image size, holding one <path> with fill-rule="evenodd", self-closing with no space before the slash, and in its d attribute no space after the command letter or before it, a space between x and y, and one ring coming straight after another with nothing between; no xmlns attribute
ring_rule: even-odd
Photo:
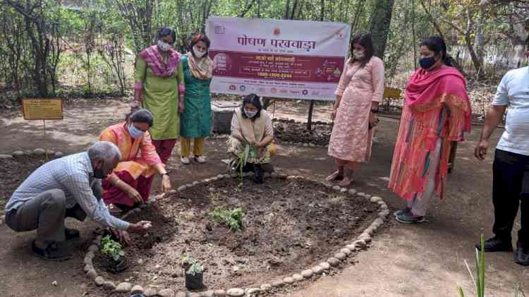
<svg viewBox="0 0 529 297"><path fill-rule="evenodd" d="M353 170L371 157L372 128L384 93L384 63L373 56L371 36L357 35L351 42L353 56L341 73L332 113L334 127L329 142L329 156L336 160L336 171L327 181L349 186Z"/></svg>

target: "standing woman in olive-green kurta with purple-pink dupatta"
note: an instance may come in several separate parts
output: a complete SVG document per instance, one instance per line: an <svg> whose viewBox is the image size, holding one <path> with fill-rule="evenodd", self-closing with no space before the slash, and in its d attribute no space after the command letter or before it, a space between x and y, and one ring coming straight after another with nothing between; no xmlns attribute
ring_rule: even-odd
<svg viewBox="0 0 529 297"><path fill-rule="evenodd" d="M180 114L183 110L181 54L171 48L176 33L170 28L158 30L158 43L147 47L136 58L135 104L154 115L150 128L152 144L166 164L180 136Z"/></svg>

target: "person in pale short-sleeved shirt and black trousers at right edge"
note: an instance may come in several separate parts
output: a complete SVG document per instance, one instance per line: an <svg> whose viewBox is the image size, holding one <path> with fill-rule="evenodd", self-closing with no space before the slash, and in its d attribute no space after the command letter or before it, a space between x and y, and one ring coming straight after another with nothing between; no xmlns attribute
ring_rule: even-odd
<svg viewBox="0 0 529 297"><path fill-rule="evenodd" d="M503 118L505 131L496 147L492 166L494 237L485 241L485 252L512 251L511 231L521 209L521 229L514 260L529 265L529 67L509 71L499 83L492 101L475 157L483 160L490 135ZM481 249L478 243L476 248Z"/></svg>

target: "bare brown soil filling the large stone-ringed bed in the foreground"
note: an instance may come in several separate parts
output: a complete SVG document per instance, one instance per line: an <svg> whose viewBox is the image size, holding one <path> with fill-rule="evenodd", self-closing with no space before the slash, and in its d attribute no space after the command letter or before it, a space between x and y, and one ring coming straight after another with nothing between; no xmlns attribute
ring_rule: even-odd
<svg viewBox="0 0 529 297"><path fill-rule="evenodd" d="M144 236L132 235L129 268L103 272L104 279L181 290L182 255L205 267L206 289L255 286L317 265L351 243L375 219L377 205L329 192L302 180L267 179L263 185L223 179L183 190L128 217L152 221ZM243 230L212 222L216 207L241 207Z"/></svg>

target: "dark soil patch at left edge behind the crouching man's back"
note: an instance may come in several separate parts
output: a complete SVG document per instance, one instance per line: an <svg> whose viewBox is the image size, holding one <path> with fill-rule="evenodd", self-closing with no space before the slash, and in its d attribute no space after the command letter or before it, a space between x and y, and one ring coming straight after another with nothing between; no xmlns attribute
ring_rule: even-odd
<svg viewBox="0 0 529 297"><path fill-rule="evenodd" d="M44 164L44 159L37 157L0 159L0 209L4 209L20 183L42 164Z"/></svg>

